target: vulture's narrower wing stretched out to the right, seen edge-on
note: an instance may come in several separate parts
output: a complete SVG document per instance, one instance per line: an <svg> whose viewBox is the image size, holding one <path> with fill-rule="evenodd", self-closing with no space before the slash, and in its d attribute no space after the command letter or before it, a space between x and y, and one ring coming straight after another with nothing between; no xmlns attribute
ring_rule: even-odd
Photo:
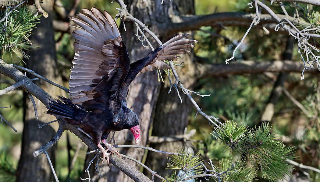
<svg viewBox="0 0 320 182"><path fill-rule="evenodd" d="M143 59L131 63L129 73L121 87L120 100L126 104L128 88L133 79L146 71L153 71L156 68L169 69L170 66L164 61L175 61L180 58L178 55L189 54L190 48L194 48L196 40L185 39L189 34L180 34L156 48Z"/></svg>

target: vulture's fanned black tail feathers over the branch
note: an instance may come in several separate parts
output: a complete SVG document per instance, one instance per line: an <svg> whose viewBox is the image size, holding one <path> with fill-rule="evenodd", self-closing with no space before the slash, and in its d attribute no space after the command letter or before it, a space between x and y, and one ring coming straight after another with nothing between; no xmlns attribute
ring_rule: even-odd
<svg viewBox="0 0 320 182"><path fill-rule="evenodd" d="M87 115L82 106L75 105L70 99L58 96L60 99L53 99L46 107L47 114L66 119L69 124L79 125Z"/></svg>

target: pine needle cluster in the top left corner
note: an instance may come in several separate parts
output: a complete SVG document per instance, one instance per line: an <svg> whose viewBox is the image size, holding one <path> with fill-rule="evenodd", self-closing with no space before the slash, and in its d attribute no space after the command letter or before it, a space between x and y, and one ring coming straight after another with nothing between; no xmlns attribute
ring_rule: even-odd
<svg viewBox="0 0 320 182"><path fill-rule="evenodd" d="M5 16L6 12L3 13L2 17ZM19 61L22 61L23 57L29 57L25 53L25 50L29 50L30 45L32 45L28 37L31 35L32 29L40 22L40 18L40 15L36 15L36 10L24 6L12 11L0 23L1 59L7 54L12 61L15 57Z"/></svg>

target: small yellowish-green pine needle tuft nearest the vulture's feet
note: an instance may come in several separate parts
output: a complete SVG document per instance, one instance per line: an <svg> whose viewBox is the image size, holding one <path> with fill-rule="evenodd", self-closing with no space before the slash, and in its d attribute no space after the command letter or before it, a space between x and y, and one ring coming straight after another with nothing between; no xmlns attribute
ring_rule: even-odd
<svg viewBox="0 0 320 182"><path fill-rule="evenodd" d="M185 172L186 175L200 174L201 166L197 166L202 162L199 153L196 156L187 152L187 148L178 147L177 152L182 155L171 155L167 163L166 169L179 169Z"/></svg>

